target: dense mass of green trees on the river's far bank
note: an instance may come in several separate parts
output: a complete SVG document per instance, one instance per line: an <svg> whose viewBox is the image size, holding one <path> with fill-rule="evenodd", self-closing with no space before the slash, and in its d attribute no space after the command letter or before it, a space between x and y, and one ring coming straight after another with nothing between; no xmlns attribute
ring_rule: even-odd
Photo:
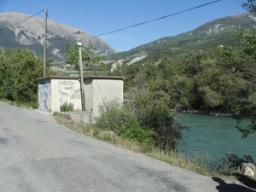
<svg viewBox="0 0 256 192"><path fill-rule="evenodd" d="M169 109L237 112L241 90L248 90L247 82L256 77L253 58L225 46L189 55L175 60L165 57L141 67L120 66L118 74L126 77L125 98L135 99L149 90Z"/></svg>

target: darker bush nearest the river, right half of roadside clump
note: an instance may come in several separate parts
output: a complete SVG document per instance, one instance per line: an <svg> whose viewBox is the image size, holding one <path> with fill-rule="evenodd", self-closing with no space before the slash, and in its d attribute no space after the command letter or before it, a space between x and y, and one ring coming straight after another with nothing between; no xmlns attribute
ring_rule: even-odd
<svg viewBox="0 0 256 192"><path fill-rule="evenodd" d="M170 112L164 98L157 98L147 90L137 95L134 108L139 124L152 127L158 147L162 152L169 153L177 150L183 130L188 128L177 122L177 114Z"/></svg>

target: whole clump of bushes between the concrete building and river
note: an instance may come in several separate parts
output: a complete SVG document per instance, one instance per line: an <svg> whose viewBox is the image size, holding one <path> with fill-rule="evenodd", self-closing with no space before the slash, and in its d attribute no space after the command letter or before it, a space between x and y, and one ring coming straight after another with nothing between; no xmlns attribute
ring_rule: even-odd
<svg viewBox="0 0 256 192"><path fill-rule="evenodd" d="M138 94L133 103L103 102L100 113L97 127L149 148L158 147L163 153L177 150L182 131L187 128L177 122L177 115L168 110L166 102L155 100L149 91Z"/></svg>

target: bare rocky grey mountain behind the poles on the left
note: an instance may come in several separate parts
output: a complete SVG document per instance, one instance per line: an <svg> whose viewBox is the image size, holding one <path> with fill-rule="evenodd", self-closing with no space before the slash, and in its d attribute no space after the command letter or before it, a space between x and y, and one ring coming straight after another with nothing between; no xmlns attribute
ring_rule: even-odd
<svg viewBox="0 0 256 192"><path fill-rule="evenodd" d="M0 14L0 48L15 48L25 45L32 49L36 55L44 55L44 19L32 17L20 13ZM20 22L20 20L25 20ZM18 25L16 23L20 22ZM12 26L15 25L15 26ZM9 26L8 28L6 28ZM65 43L75 44L77 35L73 32L84 32L79 28L61 25L54 20L47 21L48 32L48 58L55 61L66 59ZM42 38L43 37L43 38ZM92 38L89 33L81 34L82 44L93 44L96 46L96 54L108 56L117 53L100 38ZM18 46L17 46L18 45Z"/></svg>

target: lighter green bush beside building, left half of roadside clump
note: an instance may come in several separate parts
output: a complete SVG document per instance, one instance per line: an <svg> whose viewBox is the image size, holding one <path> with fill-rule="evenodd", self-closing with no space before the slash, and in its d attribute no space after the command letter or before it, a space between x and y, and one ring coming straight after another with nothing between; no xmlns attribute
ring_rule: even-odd
<svg viewBox="0 0 256 192"><path fill-rule="evenodd" d="M130 102L103 102L100 113L101 116L96 118L97 127L114 131L119 137L142 144L144 151L155 146L154 129L139 125Z"/></svg>

